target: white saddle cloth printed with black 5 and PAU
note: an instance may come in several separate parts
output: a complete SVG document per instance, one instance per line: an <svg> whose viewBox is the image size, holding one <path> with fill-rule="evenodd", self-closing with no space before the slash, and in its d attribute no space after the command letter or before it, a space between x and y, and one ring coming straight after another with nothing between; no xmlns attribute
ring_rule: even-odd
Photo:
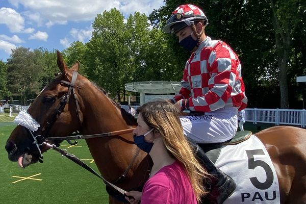
<svg viewBox="0 0 306 204"><path fill-rule="evenodd" d="M236 182L224 204L279 203L278 179L262 142L254 135L236 145L222 146L215 165Z"/></svg>

